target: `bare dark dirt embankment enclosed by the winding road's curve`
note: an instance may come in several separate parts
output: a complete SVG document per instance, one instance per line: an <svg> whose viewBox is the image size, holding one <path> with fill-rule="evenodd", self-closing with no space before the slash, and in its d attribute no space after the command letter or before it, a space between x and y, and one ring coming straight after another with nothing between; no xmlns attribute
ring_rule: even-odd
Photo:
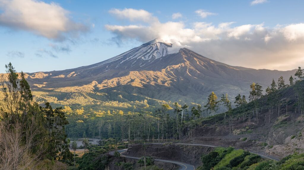
<svg viewBox="0 0 304 170"><path fill-rule="evenodd" d="M200 156L209 153L214 148L205 146L175 145L175 144L146 144L132 145L125 155L141 157L146 153L155 159L164 159L185 162L191 165L200 165Z"/></svg>

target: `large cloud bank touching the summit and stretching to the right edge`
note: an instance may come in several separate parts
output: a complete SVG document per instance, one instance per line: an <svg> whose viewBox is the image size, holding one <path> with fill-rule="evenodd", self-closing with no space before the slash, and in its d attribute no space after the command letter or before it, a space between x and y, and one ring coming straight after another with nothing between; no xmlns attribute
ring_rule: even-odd
<svg viewBox="0 0 304 170"><path fill-rule="evenodd" d="M230 65L287 70L304 65L304 23L268 28L235 22L155 22L141 25L105 25L119 41L148 42L154 38L173 43L175 50L189 48ZM250 61L250 62L248 62Z"/></svg>

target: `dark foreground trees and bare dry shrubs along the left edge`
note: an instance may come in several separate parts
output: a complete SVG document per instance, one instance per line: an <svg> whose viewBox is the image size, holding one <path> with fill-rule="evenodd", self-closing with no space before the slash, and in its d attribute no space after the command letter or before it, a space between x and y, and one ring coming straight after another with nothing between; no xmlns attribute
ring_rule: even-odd
<svg viewBox="0 0 304 170"><path fill-rule="evenodd" d="M44 107L33 101L25 75L12 64L1 77L4 94L0 109L0 169L55 169L55 161L71 163L65 134L68 124L62 108ZM49 161L47 161L49 160ZM50 166L49 166L50 165Z"/></svg>

